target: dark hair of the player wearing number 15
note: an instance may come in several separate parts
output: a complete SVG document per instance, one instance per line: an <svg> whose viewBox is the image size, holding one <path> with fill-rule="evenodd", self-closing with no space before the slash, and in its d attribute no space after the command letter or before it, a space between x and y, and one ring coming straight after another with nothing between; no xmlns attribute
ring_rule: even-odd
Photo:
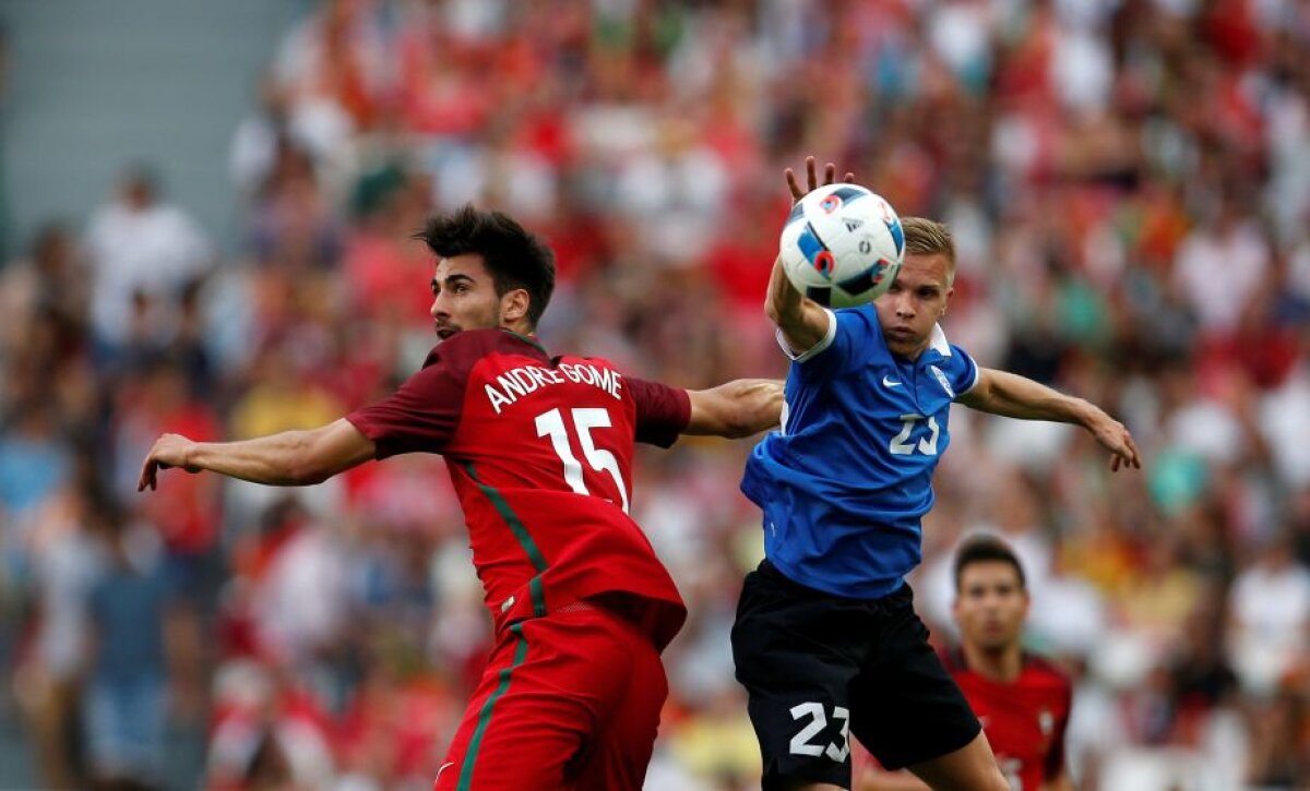
<svg viewBox="0 0 1310 791"><path fill-rule="evenodd" d="M528 292L528 321L537 326L555 289L555 257L512 217L465 203L453 212L432 216L414 238L423 240L440 258L481 255L496 296L515 288Z"/></svg>

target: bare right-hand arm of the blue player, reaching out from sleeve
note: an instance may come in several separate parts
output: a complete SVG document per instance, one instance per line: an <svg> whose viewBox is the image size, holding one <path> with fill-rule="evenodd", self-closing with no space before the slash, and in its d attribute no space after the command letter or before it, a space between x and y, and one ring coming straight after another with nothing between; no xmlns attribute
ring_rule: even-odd
<svg viewBox="0 0 1310 791"><path fill-rule="evenodd" d="M1031 378L980 367L977 384L960 396L959 401L964 406L993 415L1082 426L1110 451L1110 469L1117 470L1120 465L1142 466L1133 435L1123 423L1090 401L1065 396Z"/></svg>

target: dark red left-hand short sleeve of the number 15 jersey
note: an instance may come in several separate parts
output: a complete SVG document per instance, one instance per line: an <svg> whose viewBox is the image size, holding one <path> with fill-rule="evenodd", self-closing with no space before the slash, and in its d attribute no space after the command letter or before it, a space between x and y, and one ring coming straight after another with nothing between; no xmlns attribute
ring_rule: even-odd
<svg viewBox="0 0 1310 791"><path fill-rule="evenodd" d="M444 342L423 368L389 397L346 415L373 440L376 458L400 453L440 453L455 436L464 406L469 367L457 363L461 338Z"/></svg>

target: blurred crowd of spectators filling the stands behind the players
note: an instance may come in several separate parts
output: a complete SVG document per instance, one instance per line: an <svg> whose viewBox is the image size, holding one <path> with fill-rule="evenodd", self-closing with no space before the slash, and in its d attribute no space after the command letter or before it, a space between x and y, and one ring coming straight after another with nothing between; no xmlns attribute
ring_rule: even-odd
<svg viewBox="0 0 1310 791"><path fill-rule="evenodd" d="M1145 452L1111 474L1072 427L956 410L912 580L935 638L952 547L998 532L1077 678L1083 787L1310 787L1306 52L1298 0L314 4L233 134L240 238L143 164L0 268L0 716L46 787L161 783L186 727L193 786L428 787L489 640L440 460L138 495L147 448L386 393L435 340L411 234L469 200L553 245L549 348L781 376L781 170L815 153L951 227L954 343ZM639 457L690 606L654 788L757 783L749 447Z"/></svg>

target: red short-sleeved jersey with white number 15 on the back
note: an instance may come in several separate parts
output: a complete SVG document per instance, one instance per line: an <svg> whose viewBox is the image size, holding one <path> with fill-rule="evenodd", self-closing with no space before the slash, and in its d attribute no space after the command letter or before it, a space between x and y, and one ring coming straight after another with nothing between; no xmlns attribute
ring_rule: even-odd
<svg viewBox="0 0 1310 791"><path fill-rule="evenodd" d="M596 358L552 358L507 330L465 330L347 419L377 458L445 457L498 630L597 597L658 648L681 629L686 606L627 503L633 445L673 444L690 420L684 390Z"/></svg>

